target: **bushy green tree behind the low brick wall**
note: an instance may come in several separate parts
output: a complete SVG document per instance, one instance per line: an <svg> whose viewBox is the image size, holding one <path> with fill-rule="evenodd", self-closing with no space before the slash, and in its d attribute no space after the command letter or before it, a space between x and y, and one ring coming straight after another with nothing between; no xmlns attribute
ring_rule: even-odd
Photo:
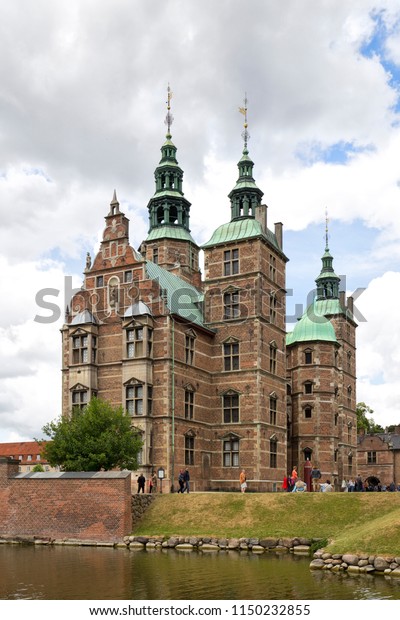
<svg viewBox="0 0 400 620"><path fill-rule="evenodd" d="M71 417L49 422L42 430L51 440L44 458L64 471L137 469L143 442L122 407L93 398L84 409L75 408Z"/></svg>

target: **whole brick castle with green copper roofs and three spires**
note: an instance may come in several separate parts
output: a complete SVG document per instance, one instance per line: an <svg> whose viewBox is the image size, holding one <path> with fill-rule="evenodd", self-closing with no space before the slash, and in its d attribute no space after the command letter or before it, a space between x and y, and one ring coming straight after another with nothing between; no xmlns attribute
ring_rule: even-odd
<svg viewBox="0 0 400 620"><path fill-rule="evenodd" d="M346 306L326 244L315 300L286 333L282 224L268 228L243 111L230 218L200 247L168 97L148 235L130 245L114 192L61 330L63 415L93 396L122 405L143 439L141 471L164 468L166 490L185 467L198 491L238 489L242 469L250 489L277 491L307 459L336 484L356 473L351 298Z"/></svg>

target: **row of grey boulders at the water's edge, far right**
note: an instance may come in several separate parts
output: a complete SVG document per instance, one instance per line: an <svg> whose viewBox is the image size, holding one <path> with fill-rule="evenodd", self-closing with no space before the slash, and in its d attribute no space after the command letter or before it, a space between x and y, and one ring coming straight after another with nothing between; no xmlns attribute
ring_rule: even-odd
<svg viewBox="0 0 400 620"><path fill-rule="evenodd" d="M314 553L310 564L312 570L331 570L348 573L381 573L400 578L400 557L381 557L379 555L353 553L326 553L323 549Z"/></svg>

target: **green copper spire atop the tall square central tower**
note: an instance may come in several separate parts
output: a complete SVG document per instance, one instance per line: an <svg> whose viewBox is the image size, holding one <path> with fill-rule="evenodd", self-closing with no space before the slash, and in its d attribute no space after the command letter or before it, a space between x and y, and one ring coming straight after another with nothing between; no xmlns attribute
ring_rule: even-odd
<svg viewBox="0 0 400 620"><path fill-rule="evenodd" d="M257 187L253 178L254 162L249 157L247 143L250 139L247 122L247 96L244 98L244 106L239 108L244 116L244 141L243 154L238 163L239 178L229 194L231 201L231 221L244 217L255 217L256 207L261 204L263 192Z"/></svg>

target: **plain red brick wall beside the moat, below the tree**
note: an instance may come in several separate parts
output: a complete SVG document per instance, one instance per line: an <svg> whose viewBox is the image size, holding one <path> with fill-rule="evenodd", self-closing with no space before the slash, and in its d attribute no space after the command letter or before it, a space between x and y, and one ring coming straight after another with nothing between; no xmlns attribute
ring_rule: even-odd
<svg viewBox="0 0 400 620"><path fill-rule="evenodd" d="M0 535L115 542L132 530L130 472L18 473L0 457Z"/></svg>

